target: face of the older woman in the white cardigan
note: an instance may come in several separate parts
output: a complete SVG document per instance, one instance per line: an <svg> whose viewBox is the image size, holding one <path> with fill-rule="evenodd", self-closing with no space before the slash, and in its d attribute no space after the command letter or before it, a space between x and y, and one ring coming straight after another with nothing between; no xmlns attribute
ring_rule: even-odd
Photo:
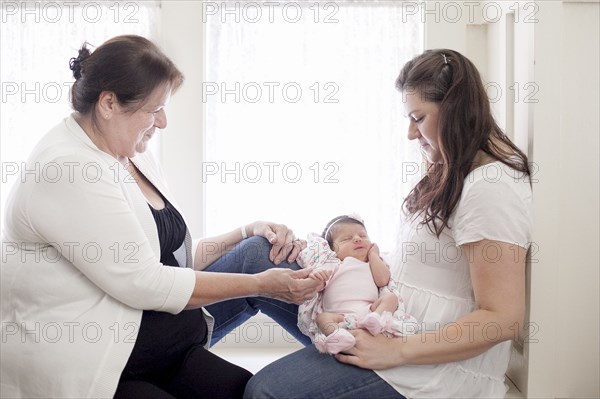
<svg viewBox="0 0 600 399"><path fill-rule="evenodd" d="M112 147L119 156L133 157L148 148L148 141L154 136L156 128L167 126L165 106L171 96L168 84L157 87L135 112L128 112L125 107L118 107L113 120L114 131Z"/></svg>

